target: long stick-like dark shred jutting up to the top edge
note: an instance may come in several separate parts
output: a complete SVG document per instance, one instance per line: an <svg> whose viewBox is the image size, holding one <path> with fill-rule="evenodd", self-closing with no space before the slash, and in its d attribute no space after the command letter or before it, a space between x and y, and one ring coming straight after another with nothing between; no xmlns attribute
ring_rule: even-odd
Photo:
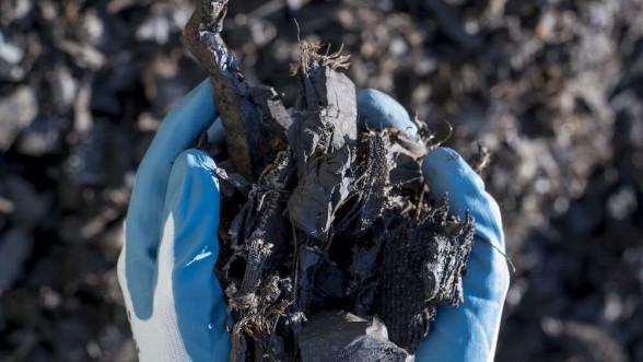
<svg viewBox="0 0 643 362"><path fill-rule="evenodd" d="M241 175L255 180L284 144L292 121L273 89L246 83L221 38L226 12L227 0L198 1L183 43L210 73L230 157Z"/></svg>

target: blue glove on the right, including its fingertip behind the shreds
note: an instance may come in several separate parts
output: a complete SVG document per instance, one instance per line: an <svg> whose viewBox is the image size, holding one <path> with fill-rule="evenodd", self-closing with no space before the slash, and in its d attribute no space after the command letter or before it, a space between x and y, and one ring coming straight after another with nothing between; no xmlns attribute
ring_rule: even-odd
<svg viewBox="0 0 643 362"><path fill-rule="evenodd" d="M358 108L362 126L406 129L417 135L405 108L379 91L360 92ZM463 280L465 302L459 307L439 307L416 361L492 361L510 281L506 260L494 249L505 250L500 209L484 191L480 176L451 149L430 152L422 162L422 173L432 196L448 194L451 214L464 220L467 210L471 213L476 237Z"/></svg>

